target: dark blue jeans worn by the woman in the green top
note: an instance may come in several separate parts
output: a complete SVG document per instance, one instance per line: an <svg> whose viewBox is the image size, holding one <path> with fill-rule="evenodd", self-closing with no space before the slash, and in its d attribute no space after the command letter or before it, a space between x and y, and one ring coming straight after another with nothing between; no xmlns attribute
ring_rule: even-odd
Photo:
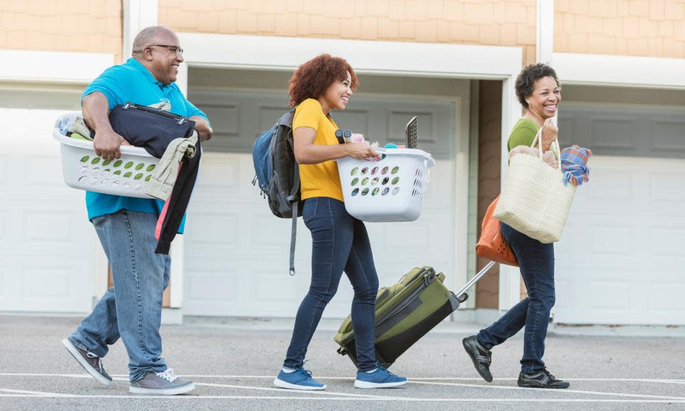
<svg viewBox="0 0 685 411"><path fill-rule="evenodd" d="M479 343L491 349L525 326L521 371L534 373L545 367L545 337L549 311L554 306L554 246L543 244L500 223L502 236L519 262L528 297L512 307L501 319L478 333Z"/></svg>

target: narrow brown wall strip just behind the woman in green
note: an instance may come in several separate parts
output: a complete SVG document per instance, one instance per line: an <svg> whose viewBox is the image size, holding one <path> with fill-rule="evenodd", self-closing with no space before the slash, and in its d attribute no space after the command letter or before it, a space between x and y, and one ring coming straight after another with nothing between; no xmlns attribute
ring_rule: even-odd
<svg viewBox="0 0 685 411"><path fill-rule="evenodd" d="M499 195L501 162L502 82L482 80L479 88L478 142L478 236L485 212ZM488 264L477 258L476 270ZM476 285L476 308L499 307L499 264Z"/></svg>

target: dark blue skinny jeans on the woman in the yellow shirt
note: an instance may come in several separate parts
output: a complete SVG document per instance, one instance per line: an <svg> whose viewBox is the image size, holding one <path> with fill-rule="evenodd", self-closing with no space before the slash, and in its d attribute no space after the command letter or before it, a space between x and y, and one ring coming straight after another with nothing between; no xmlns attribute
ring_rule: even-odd
<svg viewBox="0 0 685 411"><path fill-rule="evenodd" d="M364 223L347 214L345 203L329 197L306 199L304 223L312 232L312 282L295 317L283 365L299 368L323 309L338 290L343 270L354 290L352 325L360 371L375 369L375 304L378 276Z"/></svg>

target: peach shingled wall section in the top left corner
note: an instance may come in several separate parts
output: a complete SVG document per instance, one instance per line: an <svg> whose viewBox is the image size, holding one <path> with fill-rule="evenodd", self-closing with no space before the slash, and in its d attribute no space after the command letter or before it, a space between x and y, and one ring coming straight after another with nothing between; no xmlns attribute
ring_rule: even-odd
<svg viewBox="0 0 685 411"><path fill-rule="evenodd" d="M121 61L118 0L0 0L0 49L112 53Z"/></svg>

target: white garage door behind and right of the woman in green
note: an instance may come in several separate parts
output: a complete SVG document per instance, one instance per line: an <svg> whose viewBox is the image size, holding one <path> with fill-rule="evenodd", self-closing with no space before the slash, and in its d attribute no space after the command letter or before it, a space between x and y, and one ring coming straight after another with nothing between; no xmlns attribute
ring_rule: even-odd
<svg viewBox="0 0 685 411"><path fill-rule="evenodd" d="M556 249L557 323L685 323L684 114L560 112L562 143L595 157Z"/></svg>

